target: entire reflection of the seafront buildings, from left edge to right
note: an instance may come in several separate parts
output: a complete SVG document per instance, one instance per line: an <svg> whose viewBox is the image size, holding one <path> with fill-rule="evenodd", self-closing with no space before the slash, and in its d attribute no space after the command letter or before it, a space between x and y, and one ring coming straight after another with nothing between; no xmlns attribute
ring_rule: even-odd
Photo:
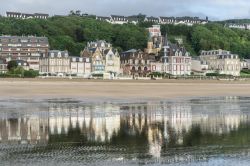
<svg viewBox="0 0 250 166"><path fill-rule="evenodd" d="M201 132L215 134L236 130L248 117L241 113L238 98L218 103L148 102L142 104L77 105L54 103L49 115L0 119L2 142L46 142L49 134L68 134L79 128L88 141L108 142L121 129L129 135L146 133L149 152L159 156L163 143L175 139L182 145L185 133L198 124Z"/></svg>

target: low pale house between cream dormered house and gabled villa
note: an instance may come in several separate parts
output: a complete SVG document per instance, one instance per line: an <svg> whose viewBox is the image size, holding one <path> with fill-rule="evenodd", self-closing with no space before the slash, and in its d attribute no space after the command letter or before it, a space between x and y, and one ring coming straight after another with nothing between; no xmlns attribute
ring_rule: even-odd
<svg viewBox="0 0 250 166"><path fill-rule="evenodd" d="M70 57L70 74L89 77L91 62L89 57Z"/></svg>

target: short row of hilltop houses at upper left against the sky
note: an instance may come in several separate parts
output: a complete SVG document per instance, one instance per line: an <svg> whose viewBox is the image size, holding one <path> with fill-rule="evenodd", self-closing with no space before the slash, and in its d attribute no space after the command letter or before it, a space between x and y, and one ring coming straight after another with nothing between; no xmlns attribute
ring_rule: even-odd
<svg viewBox="0 0 250 166"><path fill-rule="evenodd" d="M9 18L18 18L18 19L29 19L29 18L47 19L49 17L48 14L43 14L43 13L27 14L19 12L6 12L6 16Z"/></svg>

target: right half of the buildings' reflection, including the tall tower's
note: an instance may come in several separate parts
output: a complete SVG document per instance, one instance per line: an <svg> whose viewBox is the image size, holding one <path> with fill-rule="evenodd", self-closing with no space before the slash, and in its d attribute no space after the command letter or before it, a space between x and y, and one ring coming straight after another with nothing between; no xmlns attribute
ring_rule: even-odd
<svg viewBox="0 0 250 166"><path fill-rule="evenodd" d="M127 117L122 118L130 119L130 130L147 130L149 153L159 157L163 143L174 139L175 144L182 145L185 134L193 125L199 125L201 132L222 134L237 130L242 122L247 122L248 117L242 114L237 97L222 101L218 105L203 103L205 106L193 106L189 102L131 105L121 107L121 110L127 110Z"/></svg>

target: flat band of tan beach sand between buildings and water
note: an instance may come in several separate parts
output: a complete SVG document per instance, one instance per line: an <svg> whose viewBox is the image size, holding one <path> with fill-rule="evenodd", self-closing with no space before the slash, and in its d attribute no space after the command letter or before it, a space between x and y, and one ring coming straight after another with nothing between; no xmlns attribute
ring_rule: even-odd
<svg viewBox="0 0 250 166"><path fill-rule="evenodd" d="M0 98L159 100L208 96L250 96L250 82L199 80L96 81L0 79Z"/></svg>

